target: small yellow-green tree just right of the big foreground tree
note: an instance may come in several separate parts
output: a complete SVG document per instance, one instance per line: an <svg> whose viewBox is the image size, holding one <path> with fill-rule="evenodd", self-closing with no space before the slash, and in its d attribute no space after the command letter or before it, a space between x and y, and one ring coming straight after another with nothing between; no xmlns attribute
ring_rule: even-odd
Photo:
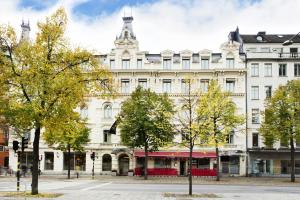
<svg viewBox="0 0 300 200"><path fill-rule="evenodd" d="M56 120L63 120L57 123ZM59 126L57 126L59 125ZM68 152L68 179L71 178L71 149L81 152L89 140L90 129L86 127L78 113L72 112L68 118L52 119L45 127L43 137L45 141L55 149Z"/></svg>

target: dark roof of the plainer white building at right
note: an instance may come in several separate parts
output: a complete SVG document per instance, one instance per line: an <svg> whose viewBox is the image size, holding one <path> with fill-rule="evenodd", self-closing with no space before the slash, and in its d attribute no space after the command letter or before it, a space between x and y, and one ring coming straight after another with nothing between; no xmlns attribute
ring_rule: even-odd
<svg viewBox="0 0 300 200"><path fill-rule="evenodd" d="M295 34L266 34L265 32L258 32L255 35L240 35L244 43L283 43L293 36ZM300 43L300 36L296 36L292 40L294 43Z"/></svg>

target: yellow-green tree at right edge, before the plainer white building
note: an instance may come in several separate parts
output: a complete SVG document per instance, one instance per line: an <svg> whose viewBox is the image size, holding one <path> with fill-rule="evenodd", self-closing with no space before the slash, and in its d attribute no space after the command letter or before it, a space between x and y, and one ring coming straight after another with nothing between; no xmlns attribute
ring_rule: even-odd
<svg viewBox="0 0 300 200"><path fill-rule="evenodd" d="M290 146L291 182L295 182L295 141L300 141L300 80L279 86L266 101L260 133L267 147L276 141Z"/></svg>

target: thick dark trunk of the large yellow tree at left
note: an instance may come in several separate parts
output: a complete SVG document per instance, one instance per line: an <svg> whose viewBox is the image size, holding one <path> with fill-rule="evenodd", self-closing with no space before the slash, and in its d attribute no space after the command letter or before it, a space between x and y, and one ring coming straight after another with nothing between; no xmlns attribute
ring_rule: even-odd
<svg viewBox="0 0 300 200"><path fill-rule="evenodd" d="M36 195L39 193L39 146L40 146L41 126L38 124L35 127L34 141L33 141L33 162L32 162L32 183L31 194Z"/></svg>

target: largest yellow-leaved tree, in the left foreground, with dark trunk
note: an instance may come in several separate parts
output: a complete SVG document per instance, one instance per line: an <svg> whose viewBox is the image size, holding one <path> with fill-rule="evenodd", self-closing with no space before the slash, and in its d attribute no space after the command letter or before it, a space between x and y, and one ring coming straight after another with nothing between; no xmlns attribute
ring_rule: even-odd
<svg viewBox="0 0 300 200"><path fill-rule="evenodd" d="M0 28L0 87L4 90L0 115L12 127L34 129L33 195L38 194L41 130L48 127L52 118L68 117L58 110L73 110L84 97L107 92L105 86L111 80L91 52L68 43L64 36L67 25L64 9L58 9L37 25L34 41L18 42L12 27ZM60 121L56 122L60 127Z"/></svg>

